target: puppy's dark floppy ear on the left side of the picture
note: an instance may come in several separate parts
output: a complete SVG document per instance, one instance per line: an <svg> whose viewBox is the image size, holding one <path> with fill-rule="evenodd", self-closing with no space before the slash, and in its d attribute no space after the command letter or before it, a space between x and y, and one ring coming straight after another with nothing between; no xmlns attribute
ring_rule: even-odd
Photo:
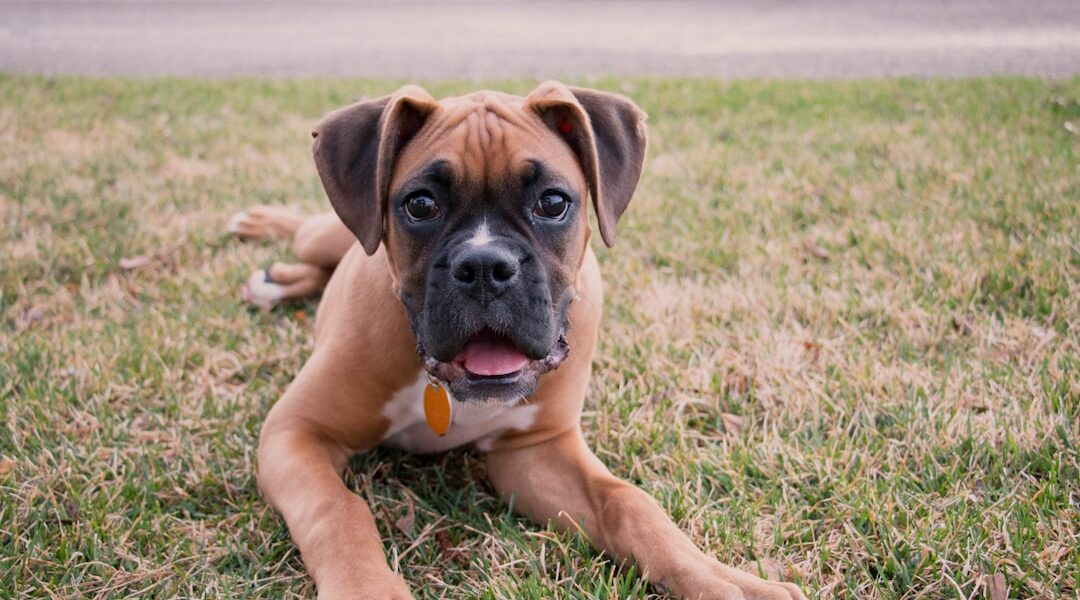
<svg viewBox="0 0 1080 600"><path fill-rule="evenodd" d="M394 162L437 108L431 94L406 85L390 96L335 110L311 133L326 195L369 255L382 242Z"/></svg>

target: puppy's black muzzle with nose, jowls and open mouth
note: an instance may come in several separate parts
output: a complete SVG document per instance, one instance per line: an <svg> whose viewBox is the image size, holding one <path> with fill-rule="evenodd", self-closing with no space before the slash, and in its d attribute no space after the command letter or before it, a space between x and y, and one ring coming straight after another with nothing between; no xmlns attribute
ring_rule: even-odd
<svg viewBox="0 0 1080 600"><path fill-rule="evenodd" d="M553 294L542 261L524 243L500 237L448 247L432 261L422 313L413 315L424 367L461 400L528 396L568 353L569 299Z"/></svg>

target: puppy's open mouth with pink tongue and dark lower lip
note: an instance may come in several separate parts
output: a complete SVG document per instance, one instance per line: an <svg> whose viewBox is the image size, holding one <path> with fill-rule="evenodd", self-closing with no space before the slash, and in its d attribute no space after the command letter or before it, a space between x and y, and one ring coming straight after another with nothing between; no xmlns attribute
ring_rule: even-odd
<svg viewBox="0 0 1080 600"><path fill-rule="evenodd" d="M453 360L438 360L422 345L418 351L428 372L450 384L451 391L476 388L477 392L490 392L499 386L528 384L530 380L535 381L539 376L558 368L569 353L569 344L564 332L548 356L529 358L510 338L483 329L465 341Z"/></svg>

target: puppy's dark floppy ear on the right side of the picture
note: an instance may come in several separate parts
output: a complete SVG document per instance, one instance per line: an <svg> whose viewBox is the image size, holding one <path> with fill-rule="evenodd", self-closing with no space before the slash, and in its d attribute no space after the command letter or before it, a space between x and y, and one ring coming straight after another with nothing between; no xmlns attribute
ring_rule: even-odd
<svg viewBox="0 0 1080 600"><path fill-rule="evenodd" d="M637 188L645 163L645 112L618 94L541 83L527 107L577 154L593 196L600 236L615 244L616 224Z"/></svg>

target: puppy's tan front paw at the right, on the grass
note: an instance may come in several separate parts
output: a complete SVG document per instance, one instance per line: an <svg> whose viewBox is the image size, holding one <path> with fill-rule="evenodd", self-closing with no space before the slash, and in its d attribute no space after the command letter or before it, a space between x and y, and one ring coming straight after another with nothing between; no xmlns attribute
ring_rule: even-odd
<svg viewBox="0 0 1080 600"><path fill-rule="evenodd" d="M769 582L712 559L677 570L658 585L693 600L807 600L795 584Z"/></svg>

